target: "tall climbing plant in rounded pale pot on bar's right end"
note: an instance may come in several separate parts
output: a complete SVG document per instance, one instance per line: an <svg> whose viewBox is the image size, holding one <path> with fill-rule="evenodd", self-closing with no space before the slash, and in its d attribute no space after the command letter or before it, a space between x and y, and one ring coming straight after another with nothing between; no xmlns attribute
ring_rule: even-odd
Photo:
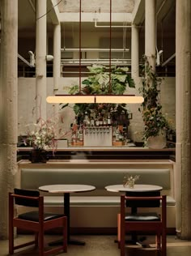
<svg viewBox="0 0 191 256"><path fill-rule="evenodd" d="M146 56L142 66L142 87L140 92L144 98L142 113L144 122L143 139L148 147L163 148L166 146L166 133L169 129L167 118L163 115L159 100L159 86L162 78L155 73Z"/></svg>

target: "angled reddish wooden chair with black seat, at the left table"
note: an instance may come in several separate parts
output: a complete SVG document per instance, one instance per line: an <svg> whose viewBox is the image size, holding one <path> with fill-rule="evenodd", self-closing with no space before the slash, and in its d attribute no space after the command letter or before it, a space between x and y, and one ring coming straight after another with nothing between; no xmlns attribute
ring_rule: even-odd
<svg viewBox="0 0 191 256"><path fill-rule="evenodd" d="M36 207L38 211L28 211L14 216L15 205ZM21 245L14 245L14 227L35 233L35 240ZM44 233L46 230L62 227L63 244L50 250L45 250ZM67 252L67 218L62 214L45 213L44 197L37 190L15 189L9 193L9 254L28 245L39 247L39 256L53 254L63 250Z"/></svg>

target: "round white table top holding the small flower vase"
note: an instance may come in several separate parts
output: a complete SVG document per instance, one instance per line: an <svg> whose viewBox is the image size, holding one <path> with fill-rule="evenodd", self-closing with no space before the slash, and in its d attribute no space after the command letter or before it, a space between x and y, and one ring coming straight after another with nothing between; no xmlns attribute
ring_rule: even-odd
<svg viewBox="0 0 191 256"><path fill-rule="evenodd" d="M162 186L146 185L146 184L135 184L134 188L129 188L128 186L123 186L121 184L106 186L106 190L110 192L151 192L163 190Z"/></svg>

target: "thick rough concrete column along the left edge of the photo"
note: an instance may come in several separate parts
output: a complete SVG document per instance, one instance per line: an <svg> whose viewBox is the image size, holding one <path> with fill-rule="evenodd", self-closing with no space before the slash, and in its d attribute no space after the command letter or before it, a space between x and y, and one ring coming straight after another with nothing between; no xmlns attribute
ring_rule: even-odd
<svg viewBox="0 0 191 256"><path fill-rule="evenodd" d="M0 239L8 238L8 192L17 173L18 1L1 4Z"/></svg>

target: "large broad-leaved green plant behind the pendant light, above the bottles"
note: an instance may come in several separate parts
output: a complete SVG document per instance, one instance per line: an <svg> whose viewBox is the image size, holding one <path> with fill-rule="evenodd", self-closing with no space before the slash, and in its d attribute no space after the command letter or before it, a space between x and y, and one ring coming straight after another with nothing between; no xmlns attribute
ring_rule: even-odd
<svg viewBox="0 0 191 256"><path fill-rule="evenodd" d="M111 69L108 66L92 65L87 66L90 74L87 79L83 80L83 87L79 92L79 86L74 85L70 88L70 94L84 94L84 95L122 95L124 94L126 87L135 87L134 79L128 74L128 67L112 66ZM62 105L64 108L66 105ZM75 104L74 113L79 119L79 122L83 122L85 113L90 114L92 111L100 112L104 109L105 112L115 109L117 115L121 113L127 113L125 104L111 105L111 104Z"/></svg>

